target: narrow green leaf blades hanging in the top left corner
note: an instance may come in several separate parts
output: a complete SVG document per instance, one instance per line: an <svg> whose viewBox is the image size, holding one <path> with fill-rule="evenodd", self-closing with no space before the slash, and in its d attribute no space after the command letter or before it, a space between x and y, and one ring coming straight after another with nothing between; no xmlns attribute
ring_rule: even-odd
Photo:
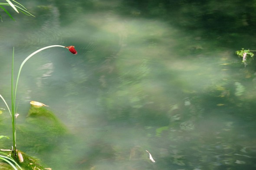
<svg viewBox="0 0 256 170"><path fill-rule="evenodd" d="M21 13L24 13L25 15L33 16L31 13L29 13L29 12L27 11L27 9L26 9L23 5L21 5L20 3L16 2L15 0L12 0L12 1L14 2L14 4L13 4L10 0L6 0L6 1L7 1L7 3L0 3L0 8L2 8L2 9L4 10L4 12L6 12L7 15L10 16L10 18L11 18L12 20L14 20L13 16L11 16L11 14L8 12L8 10L6 10L3 6L10 6L10 7L12 7L13 10L15 10L17 13L19 13L19 11L20 11ZM3 22L1 15L0 15L0 19L1 19L1 21ZM14 21L15 21L15 20L14 20Z"/></svg>

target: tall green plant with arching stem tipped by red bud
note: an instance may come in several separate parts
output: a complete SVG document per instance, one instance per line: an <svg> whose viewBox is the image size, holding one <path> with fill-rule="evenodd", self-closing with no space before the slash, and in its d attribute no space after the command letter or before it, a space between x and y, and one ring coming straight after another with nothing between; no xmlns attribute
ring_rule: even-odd
<svg viewBox="0 0 256 170"><path fill-rule="evenodd" d="M20 72L23 68L23 65L26 63L26 61L28 59L30 59L32 56L34 56L35 54L37 54L38 52L40 51L43 51L44 49L49 49L49 48L52 48L52 47L63 47L63 48L67 48L69 49L70 52L72 52L73 54L77 54L77 52L75 51L75 47L74 46L68 46L68 47L65 47L65 46L60 46L60 45L53 45L53 46L46 46L46 47L43 47L41 49L38 49L36 50L35 52L33 52L32 54L30 54L29 56L26 57L26 59L23 60L23 62L21 63L20 65L20 69L19 69L19 72L18 72L18 75L17 75L17 78L16 78L16 85L15 85L15 88L13 90L13 69L14 69L14 48L13 48L13 56L12 56L12 72L11 72L11 104L12 104L12 107L11 107L11 110L7 104L7 102L5 101L5 99L3 98L2 95L0 95L0 98L2 98L4 104L6 105L9 113L10 113L10 116L11 116L11 119L12 119L12 135L13 135L13 149L12 149L12 153L14 155L14 157L16 157L16 118L19 116L19 114L17 113L17 108L16 108L16 92L17 92L17 87L18 87L18 82L19 82L19 78L20 78ZM15 110L16 109L16 110Z"/></svg>

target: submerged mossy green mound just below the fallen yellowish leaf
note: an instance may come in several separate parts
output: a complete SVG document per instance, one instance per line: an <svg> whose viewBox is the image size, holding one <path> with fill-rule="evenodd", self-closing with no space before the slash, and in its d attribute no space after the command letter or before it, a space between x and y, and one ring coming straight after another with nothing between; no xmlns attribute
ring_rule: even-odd
<svg viewBox="0 0 256 170"><path fill-rule="evenodd" d="M18 147L30 154L52 152L68 134L65 125L52 111L33 106L26 123L17 125L17 132Z"/></svg>

